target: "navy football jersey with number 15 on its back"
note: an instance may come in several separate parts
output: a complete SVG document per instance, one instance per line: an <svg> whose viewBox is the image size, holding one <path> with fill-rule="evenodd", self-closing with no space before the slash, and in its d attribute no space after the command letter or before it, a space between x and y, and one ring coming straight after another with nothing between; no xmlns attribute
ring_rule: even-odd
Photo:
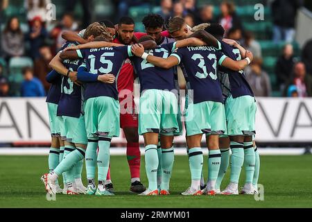
<svg viewBox="0 0 312 222"><path fill-rule="evenodd" d="M80 58L85 58L85 67L90 74L113 74L115 83L86 83L85 99L98 96L110 96L118 99L117 81L119 71L126 58L132 56L131 46L112 46L100 49L77 50Z"/></svg>

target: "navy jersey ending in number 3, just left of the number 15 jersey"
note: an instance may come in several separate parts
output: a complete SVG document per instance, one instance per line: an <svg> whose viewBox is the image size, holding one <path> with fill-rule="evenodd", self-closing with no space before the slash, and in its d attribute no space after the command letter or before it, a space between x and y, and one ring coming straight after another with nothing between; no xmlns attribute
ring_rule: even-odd
<svg viewBox="0 0 312 222"><path fill-rule="evenodd" d="M67 42L67 46L77 45L77 42ZM77 71L78 67L83 64L83 59L63 60L63 65L70 71ZM62 77L61 96L58 103L58 116L80 117L81 110L81 87L74 84L67 76Z"/></svg>

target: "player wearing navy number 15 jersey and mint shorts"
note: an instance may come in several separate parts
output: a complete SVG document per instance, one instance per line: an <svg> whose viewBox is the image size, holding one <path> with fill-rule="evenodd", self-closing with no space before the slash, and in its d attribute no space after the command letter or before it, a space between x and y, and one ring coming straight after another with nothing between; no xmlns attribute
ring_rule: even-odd
<svg viewBox="0 0 312 222"><path fill-rule="evenodd" d="M112 42L112 39L107 37L105 41ZM90 189L96 195L112 195L105 189L105 180L110 163L110 141L112 137L119 136L120 111L115 78L118 78L124 60L132 56L131 46L110 44L112 46L98 49L64 51L60 55L63 59L84 58L86 60L85 65L78 70L78 80L86 82L85 123L87 137L89 141L94 141L94 144L97 144L95 142L98 141L99 146L97 157L98 189L95 185L92 190ZM92 78L85 78L85 76L92 76ZM110 83L99 82L101 76L112 76ZM87 151L88 149L89 144ZM90 175L90 178L94 177L94 175Z"/></svg>

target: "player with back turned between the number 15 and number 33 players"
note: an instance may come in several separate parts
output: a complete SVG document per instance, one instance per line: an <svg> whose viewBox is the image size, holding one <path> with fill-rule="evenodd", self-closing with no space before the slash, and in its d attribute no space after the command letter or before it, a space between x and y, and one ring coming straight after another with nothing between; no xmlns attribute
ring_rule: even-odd
<svg viewBox="0 0 312 222"><path fill-rule="evenodd" d="M141 37L139 42L153 40L151 36ZM148 53L168 58L170 53L178 47L200 46L205 44L197 38L162 44ZM139 76L141 85L139 135L144 136L146 173L148 189L141 195L168 195L169 182L173 168L173 136L179 133L177 115L177 89L175 88L175 70L155 67L144 58L131 58L135 72ZM157 153L160 135L161 158ZM157 168L161 166L162 180L158 190Z"/></svg>

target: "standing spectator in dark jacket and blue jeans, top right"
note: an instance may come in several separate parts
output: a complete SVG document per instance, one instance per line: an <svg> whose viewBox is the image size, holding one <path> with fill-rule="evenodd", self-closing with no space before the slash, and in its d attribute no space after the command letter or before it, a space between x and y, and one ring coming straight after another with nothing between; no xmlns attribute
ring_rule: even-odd
<svg viewBox="0 0 312 222"><path fill-rule="evenodd" d="M272 3L273 41L293 42L295 37L295 17L303 0L275 0Z"/></svg>

